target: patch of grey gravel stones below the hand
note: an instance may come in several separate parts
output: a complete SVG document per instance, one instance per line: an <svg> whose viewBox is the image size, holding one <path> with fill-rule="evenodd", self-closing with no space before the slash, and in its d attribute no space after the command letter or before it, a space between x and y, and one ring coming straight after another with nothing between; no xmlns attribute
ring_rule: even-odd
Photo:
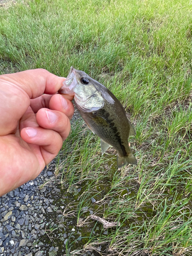
<svg viewBox="0 0 192 256"><path fill-rule="evenodd" d="M53 169L55 160L50 166ZM0 255L1 256L41 256L49 255L54 244L39 242L45 235L49 213L55 205L50 193L59 193L51 184L39 186L54 176L46 168L33 181L16 188L0 198ZM57 215L57 214L56 214Z"/></svg>

